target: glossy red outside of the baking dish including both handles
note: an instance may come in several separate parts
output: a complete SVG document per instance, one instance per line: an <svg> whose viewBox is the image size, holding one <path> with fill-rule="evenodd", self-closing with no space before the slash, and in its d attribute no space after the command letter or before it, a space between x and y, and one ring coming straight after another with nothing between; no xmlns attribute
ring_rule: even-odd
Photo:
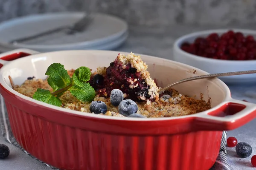
<svg viewBox="0 0 256 170"><path fill-rule="evenodd" d="M1 54L0 59L30 53L37 52L20 49ZM219 153L222 130L256 118L256 105L228 100L210 113L158 120L81 114L20 97L4 83L0 94L17 142L32 156L62 170L209 170ZM213 119L233 114L238 116L232 121Z"/></svg>

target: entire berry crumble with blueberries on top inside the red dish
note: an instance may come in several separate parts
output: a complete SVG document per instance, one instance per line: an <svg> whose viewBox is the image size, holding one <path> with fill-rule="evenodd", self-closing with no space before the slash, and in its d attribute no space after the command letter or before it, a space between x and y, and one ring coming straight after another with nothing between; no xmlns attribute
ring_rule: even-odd
<svg viewBox="0 0 256 170"><path fill-rule="evenodd" d="M55 66L63 65L56 64ZM52 95L50 97L55 97L56 102L61 102L60 107L106 116L172 117L194 114L211 108L209 101L185 96L174 89L170 89L159 96L160 87L150 77L147 71L148 65L142 61L140 56L133 53L118 54L108 67L99 67L93 73L87 68L87 72L91 72L88 79L81 75L81 73L85 73L85 67L79 68L79 73L77 72L78 69L66 71L70 84L66 83L67 87L61 87L65 91L56 87L60 83L52 84L54 77L50 77L53 74L50 71L53 68L48 68L47 75L49 74L49 77L47 79L28 77L22 85L14 85L11 77L9 77L12 88L20 94L34 99L38 89L41 89L41 93L49 92L47 95ZM79 82L79 79L82 78L86 81ZM95 91L90 102L83 101L83 98L74 91L75 88L82 89L85 87L83 85L86 87L89 85ZM67 90L68 88L70 89ZM91 89L90 93L92 94ZM49 99L55 100L53 98ZM40 96L38 100L40 100Z"/></svg>

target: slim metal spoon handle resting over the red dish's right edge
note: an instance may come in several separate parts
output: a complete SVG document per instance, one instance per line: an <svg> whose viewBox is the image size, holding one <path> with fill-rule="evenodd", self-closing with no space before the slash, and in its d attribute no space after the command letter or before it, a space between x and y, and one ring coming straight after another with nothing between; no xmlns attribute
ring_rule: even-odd
<svg viewBox="0 0 256 170"><path fill-rule="evenodd" d="M168 90L169 88L178 85L183 82L188 82L192 80L197 80L197 79L206 79L206 78L212 78L212 77L222 77L222 76L234 76L234 75L240 75L240 74L253 74L256 73L256 70L249 70L249 71L236 71L236 72L228 72L228 73L217 73L217 74L207 74L207 75L202 75L202 76L195 76L195 77L189 77L186 79L181 79L177 82L173 82L170 85L167 85L166 87L162 88L158 93L161 94L164 91Z"/></svg>

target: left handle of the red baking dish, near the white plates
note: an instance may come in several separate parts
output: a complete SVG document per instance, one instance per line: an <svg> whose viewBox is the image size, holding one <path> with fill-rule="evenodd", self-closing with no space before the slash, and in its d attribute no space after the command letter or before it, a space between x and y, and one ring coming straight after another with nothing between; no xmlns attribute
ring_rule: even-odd
<svg viewBox="0 0 256 170"><path fill-rule="evenodd" d="M8 62L21 58L26 57L32 54L38 54L38 51L29 50L26 48L18 48L16 50L4 52L0 54L0 68L3 67L3 65L6 65Z"/></svg>

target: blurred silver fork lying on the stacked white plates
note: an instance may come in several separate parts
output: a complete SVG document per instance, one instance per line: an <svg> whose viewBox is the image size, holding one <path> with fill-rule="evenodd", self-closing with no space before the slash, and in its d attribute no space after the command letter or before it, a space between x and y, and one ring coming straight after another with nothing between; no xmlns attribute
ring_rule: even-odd
<svg viewBox="0 0 256 170"><path fill-rule="evenodd" d="M49 34L54 34L60 31L65 31L66 34L74 34L76 32L84 31L84 29L91 23L91 21L92 21L91 15L85 14L84 17L81 18L81 20L77 21L72 26L62 26L62 27L54 28L48 31L44 31L44 32L29 36L29 37L23 37L16 40L12 40L10 43L15 45L19 42L33 40L35 38L43 37Z"/></svg>

